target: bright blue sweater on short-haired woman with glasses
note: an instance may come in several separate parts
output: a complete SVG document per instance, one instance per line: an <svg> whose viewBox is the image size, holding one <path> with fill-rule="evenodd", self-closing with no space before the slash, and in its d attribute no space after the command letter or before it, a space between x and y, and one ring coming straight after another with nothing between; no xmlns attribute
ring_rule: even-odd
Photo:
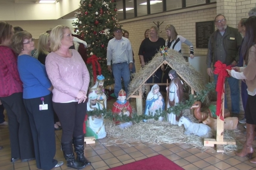
<svg viewBox="0 0 256 170"><path fill-rule="evenodd" d="M30 55L18 56L18 71L23 82L23 98L36 98L50 94L52 85L45 66Z"/></svg>

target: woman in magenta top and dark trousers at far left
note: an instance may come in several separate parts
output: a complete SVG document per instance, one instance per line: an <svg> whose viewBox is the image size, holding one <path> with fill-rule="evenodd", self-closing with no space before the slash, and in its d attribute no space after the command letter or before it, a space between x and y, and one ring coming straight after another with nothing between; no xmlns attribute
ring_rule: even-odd
<svg viewBox="0 0 256 170"><path fill-rule="evenodd" d="M0 100L7 111L11 144L11 162L34 158L29 117L23 104L23 88L17 57L10 49L14 28L0 22Z"/></svg>

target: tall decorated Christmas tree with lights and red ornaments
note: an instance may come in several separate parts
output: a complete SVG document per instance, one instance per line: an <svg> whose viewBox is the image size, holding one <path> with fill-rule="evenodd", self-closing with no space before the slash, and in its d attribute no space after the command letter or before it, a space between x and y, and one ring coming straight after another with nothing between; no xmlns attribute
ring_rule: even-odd
<svg viewBox="0 0 256 170"><path fill-rule="evenodd" d="M108 42L113 38L113 28L119 26L116 11L116 0L81 0L79 12L75 12L77 21L73 23L78 34L88 44L87 56L94 58L94 61L98 59L105 77L104 85L114 84L112 73L107 69L106 57ZM95 77L95 69L99 70L97 64L89 64L87 67L89 71L93 69Z"/></svg>

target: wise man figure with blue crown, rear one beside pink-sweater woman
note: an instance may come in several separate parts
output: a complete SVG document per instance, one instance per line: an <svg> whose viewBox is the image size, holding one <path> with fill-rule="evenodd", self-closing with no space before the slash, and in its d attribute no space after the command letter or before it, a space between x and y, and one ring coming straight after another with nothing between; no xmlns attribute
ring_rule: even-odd
<svg viewBox="0 0 256 170"><path fill-rule="evenodd" d="M101 104L102 108L107 107L107 97L106 97L106 94L104 93L104 81L105 81L105 77L102 75L100 76L98 75L95 85L90 89L90 92L94 90L95 93L98 95L97 102Z"/></svg>

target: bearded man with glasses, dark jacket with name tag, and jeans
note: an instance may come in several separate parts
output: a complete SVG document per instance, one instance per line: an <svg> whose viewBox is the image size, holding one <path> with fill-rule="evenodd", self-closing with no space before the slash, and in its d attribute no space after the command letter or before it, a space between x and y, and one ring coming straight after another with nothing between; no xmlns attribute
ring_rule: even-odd
<svg viewBox="0 0 256 170"><path fill-rule="evenodd" d="M207 73L212 76L215 62L221 61L227 66L236 66L239 60L239 47L242 42L242 36L236 28L227 26L227 21L224 15L219 14L214 19L215 26L218 30L211 34L208 42L207 53ZM217 80L217 75L214 74L214 80ZM240 112L240 92L238 80L236 78L227 78L230 87L231 97L231 113L238 117ZM225 97L225 108L227 108L227 100Z"/></svg>

